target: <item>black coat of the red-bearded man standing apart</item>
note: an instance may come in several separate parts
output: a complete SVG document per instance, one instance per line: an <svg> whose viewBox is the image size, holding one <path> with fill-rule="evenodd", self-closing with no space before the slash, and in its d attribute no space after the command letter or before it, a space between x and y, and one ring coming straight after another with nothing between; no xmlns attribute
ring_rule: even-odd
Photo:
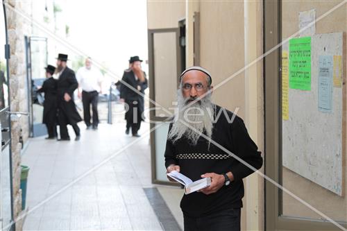
<svg viewBox="0 0 347 231"><path fill-rule="evenodd" d="M137 101L138 103L138 112L139 114L142 114L144 112L144 97L139 94L141 92L144 94L144 90L148 87L148 80L146 78L146 73L144 73L144 82L140 82L139 80L136 80L135 74L133 71L124 71L123 78L121 78L125 83L128 83L131 87L134 89L130 89L128 86L124 85L123 83L121 84L121 99L124 99L126 103L128 103L130 110L128 110L128 113L126 113L126 118L127 117L133 117L133 112L131 105L133 105L133 101ZM141 87L141 90L137 90L137 86Z"/></svg>

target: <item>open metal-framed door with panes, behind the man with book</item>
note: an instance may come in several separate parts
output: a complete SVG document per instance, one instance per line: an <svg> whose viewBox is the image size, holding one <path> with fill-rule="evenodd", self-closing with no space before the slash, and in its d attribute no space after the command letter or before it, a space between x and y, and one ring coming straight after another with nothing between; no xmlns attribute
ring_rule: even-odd
<svg viewBox="0 0 347 231"><path fill-rule="evenodd" d="M166 178L164 149L171 108L176 101L180 72L182 71L180 28L163 28L148 31L149 36L149 117L151 121L152 182L175 185ZM155 103L154 103L155 101ZM171 112L171 113L169 113ZM154 123L155 121L155 123Z"/></svg>

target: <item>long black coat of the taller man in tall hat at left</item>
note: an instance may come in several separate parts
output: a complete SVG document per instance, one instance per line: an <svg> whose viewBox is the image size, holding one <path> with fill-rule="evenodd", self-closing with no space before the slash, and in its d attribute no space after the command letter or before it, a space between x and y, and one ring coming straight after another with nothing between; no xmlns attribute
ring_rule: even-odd
<svg viewBox="0 0 347 231"><path fill-rule="evenodd" d="M58 79L58 118L59 121L65 121L67 124L74 125L82 121L78 114L74 102L74 91L78 87L75 72L68 67L62 71ZM67 93L71 97L69 102L65 101L64 94Z"/></svg>

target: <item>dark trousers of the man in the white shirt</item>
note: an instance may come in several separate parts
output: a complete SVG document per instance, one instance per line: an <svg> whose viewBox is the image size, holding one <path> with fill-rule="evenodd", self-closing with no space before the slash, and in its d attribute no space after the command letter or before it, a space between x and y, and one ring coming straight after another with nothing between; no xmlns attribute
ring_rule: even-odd
<svg viewBox="0 0 347 231"><path fill-rule="evenodd" d="M99 124L99 114L98 114L98 96L99 93L93 92L82 92L82 103L83 103L83 117L85 119L85 125L90 126L90 104L92 103L93 112L93 126L97 127Z"/></svg>

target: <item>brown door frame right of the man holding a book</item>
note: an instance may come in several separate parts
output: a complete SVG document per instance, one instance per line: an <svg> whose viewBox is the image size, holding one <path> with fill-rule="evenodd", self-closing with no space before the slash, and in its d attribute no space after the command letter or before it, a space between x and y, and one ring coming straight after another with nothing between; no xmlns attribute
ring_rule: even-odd
<svg viewBox="0 0 347 231"><path fill-rule="evenodd" d="M264 1L264 53L280 44L282 39L282 1ZM264 116L266 176L282 185L282 86L280 65L282 47L264 57ZM265 230L339 230L327 221L282 216L282 194L271 182L264 180ZM347 223L340 223L347 227Z"/></svg>

